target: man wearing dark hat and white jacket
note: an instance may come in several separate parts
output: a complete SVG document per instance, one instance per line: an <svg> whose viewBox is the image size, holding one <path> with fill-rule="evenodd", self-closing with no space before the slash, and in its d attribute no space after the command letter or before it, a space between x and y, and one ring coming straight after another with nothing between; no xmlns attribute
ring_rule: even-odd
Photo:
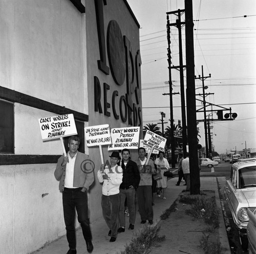
<svg viewBox="0 0 256 254"><path fill-rule="evenodd" d="M112 155L110 156L110 164L108 161L105 163L105 165L102 164L97 172L99 182L103 183L101 207L105 222L110 228L110 242L116 241L119 222L119 187L123 179L122 168L117 165L119 159L120 157L118 151L113 151Z"/></svg>

